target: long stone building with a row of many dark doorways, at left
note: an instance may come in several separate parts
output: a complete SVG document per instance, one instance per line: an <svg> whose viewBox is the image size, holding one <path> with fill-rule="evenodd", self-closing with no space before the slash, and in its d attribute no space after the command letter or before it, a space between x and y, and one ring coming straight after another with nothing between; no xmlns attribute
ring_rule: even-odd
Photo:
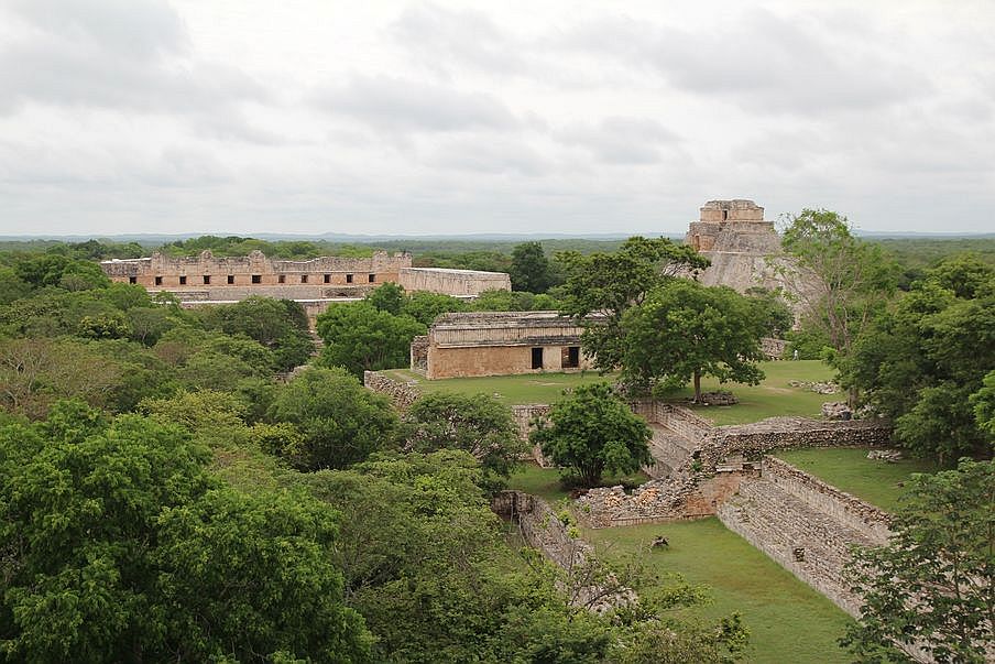
<svg viewBox="0 0 995 664"><path fill-rule="evenodd" d="M384 283L456 297L511 290L511 280L503 272L413 268L406 252L374 251L367 258L332 255L307 261L274 260L261 251L217 258L210 251L182 258L156 252L102 261L100 266L111 281L173 293L184 306L237 302L252 295L294 300L304 305L311 323L330 303L362 297Z"/></svg>

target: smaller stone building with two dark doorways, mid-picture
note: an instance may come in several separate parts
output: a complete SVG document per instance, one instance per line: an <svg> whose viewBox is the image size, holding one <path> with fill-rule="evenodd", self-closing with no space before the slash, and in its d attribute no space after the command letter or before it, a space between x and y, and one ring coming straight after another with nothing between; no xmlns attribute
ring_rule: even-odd
<svg viewBox="0 0 995 664"><path fill-rule="evenodd" d="M582 328L558 312L444 314L412 342L412 369L429 380L580 371Z"/></svg>

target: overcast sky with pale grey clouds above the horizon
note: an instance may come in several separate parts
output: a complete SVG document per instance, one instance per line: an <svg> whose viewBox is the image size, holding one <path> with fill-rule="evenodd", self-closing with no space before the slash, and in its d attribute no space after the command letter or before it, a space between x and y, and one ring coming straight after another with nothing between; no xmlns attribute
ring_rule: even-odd
<svg viewBox="0 0 995 664"><path fill-rule="evenodd" d="M0 0L0 235L995 230L995 2Z"/></svg>

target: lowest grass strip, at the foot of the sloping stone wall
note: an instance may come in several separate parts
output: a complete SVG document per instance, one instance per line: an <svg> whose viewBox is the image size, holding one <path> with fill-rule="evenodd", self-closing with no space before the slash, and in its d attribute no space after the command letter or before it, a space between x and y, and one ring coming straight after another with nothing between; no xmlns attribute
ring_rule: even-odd
<svg viewBox="0 0 995 664"><path fill-rule="evenodd" d="M666 535L669 549L649 552L657 534ZM586 530L583 536L603 556L644 552L657 573L708 585L714 601L688 611L709 620L740 611L751 632L747 662L850 661L837 644L850 617L715 518Z"/></svg>

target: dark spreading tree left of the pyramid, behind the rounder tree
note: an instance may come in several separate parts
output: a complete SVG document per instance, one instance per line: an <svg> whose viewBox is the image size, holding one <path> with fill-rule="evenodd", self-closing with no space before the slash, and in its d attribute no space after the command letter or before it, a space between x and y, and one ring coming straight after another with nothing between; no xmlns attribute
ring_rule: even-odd
<svg viewBox="0 0 995 664"><path fill-rule="evenodd" d="M601 371L622 364L622 317L630 307L642 304L650 291L678 274L709 264L691 247L667 238L641 237L630 238L612 253L565 251L557 260L567 275L562 311L584 326L584 352Z"/></svg>

